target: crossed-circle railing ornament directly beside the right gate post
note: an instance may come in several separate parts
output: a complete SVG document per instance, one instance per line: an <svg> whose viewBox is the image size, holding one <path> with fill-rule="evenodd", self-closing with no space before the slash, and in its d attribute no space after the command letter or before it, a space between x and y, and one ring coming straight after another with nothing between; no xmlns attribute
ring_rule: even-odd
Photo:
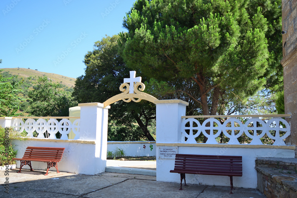
<svg viewBox="0 0 297 198"><path fill-rule="evenodd" d="M186 126L187 123L189 123L190 126ZM196 123L197 126L193 126L193 123ZM195 138L198 137L201 133L200 123L194 118L188 118L183 121L181 126L183 126L182 133L184 134L185 137L188 138L186 142L188 144L196 144L197 142L196 142ZM186 130L190 131L189 134L187 134ZM197 133L194 134L193 130L197 130Z"/></svg>

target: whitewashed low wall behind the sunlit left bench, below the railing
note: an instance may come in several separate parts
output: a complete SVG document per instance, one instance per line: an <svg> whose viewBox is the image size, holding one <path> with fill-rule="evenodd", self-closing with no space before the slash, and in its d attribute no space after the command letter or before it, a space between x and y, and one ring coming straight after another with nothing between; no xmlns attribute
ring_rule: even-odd
<svg viewBox="0 0 297 198"><path fill-rule="evenodd" d="M16 158L23 158L28 146L35 147L56 147L65 148L62 159L58 162L58 169L61 172L71 172L85 175L95 175L105 172L106 167L106 150L103 153L96 153L95 141L88 140L46 140L33 139L28 140L12 140L15 144L14 149L18 150ZM100 149L100 148L99 148ZM98 150L98 148L97 148ZM20 168L20 161L16 161L17 168ZM31 161L34 170L46 170L47 163ZM30 169L28 165L24 165L22 169ZM55 167L50 168L56 171Z"/></svg>

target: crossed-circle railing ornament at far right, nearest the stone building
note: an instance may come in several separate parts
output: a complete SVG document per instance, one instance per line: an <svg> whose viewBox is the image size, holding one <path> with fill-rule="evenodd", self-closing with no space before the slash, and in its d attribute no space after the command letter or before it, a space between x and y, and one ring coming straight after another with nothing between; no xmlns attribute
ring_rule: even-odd
<svg viewBox="0 0 297 198"><path fill-rule="evenodd" d="M279 123L280 121L285 124L286 128L282 127L282 125ZM273 124L273 122L275 122L275 127L270 126L271 124ZM272 119L268 120L268 122L266 123L266 126L268 128L267 136L269 138L275 140L273 145L277 145L277 146L284 145L285 146L286 143L284 142L284 139L286 137L288 137L291 132L289 123L282 118L272 118ZM270 131L275 131L274 136L270 133ZM285 132L285 134L283 136L280 136L280 134L279 134L280 131Z"/></svg>

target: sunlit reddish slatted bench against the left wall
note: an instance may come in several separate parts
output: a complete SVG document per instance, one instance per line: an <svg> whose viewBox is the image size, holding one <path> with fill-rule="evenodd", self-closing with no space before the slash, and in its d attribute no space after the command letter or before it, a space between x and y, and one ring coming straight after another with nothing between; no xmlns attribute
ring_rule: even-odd
<svg viewBox="0 0 297 198"><path fill-rule="evenodd" d="M24 165L29 165L31 170L33 170L31 161L42 161L48 163L48 169L45 175L48 175L50 167L55 167L59 173L57 163L61 161L64 149L65 148L28 146L23 158L13 158L13 160L20 160L20 171Z"/></svg>

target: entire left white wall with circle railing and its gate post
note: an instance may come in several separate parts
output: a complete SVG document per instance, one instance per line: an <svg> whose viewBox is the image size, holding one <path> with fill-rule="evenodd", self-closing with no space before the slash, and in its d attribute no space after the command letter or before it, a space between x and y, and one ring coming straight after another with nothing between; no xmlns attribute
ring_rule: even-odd
<svg viewBox="0 0 297 198"><path fill-rule="evenodd" d="M104 172L107 153L108 109L102 103L83 103L80 117L3 117L2 127L13 127L19 133L26 131L27 137L12 139L16 158L22 158L28 146L65 148L58 163L61 172L96 175ZM33 133L37 133L37 137ZM57 133L61 138L57 138ZM69 133L74 140L68 138ZM35 133L34 133L35 134ZM36 136L36 135L35 135ZM16 161L17 168L20 161ZM35 170L46 170L44 162L32 161ZM25 165L23 169L29 169ZM54 167L51 171L56 171Z"/></svg>

